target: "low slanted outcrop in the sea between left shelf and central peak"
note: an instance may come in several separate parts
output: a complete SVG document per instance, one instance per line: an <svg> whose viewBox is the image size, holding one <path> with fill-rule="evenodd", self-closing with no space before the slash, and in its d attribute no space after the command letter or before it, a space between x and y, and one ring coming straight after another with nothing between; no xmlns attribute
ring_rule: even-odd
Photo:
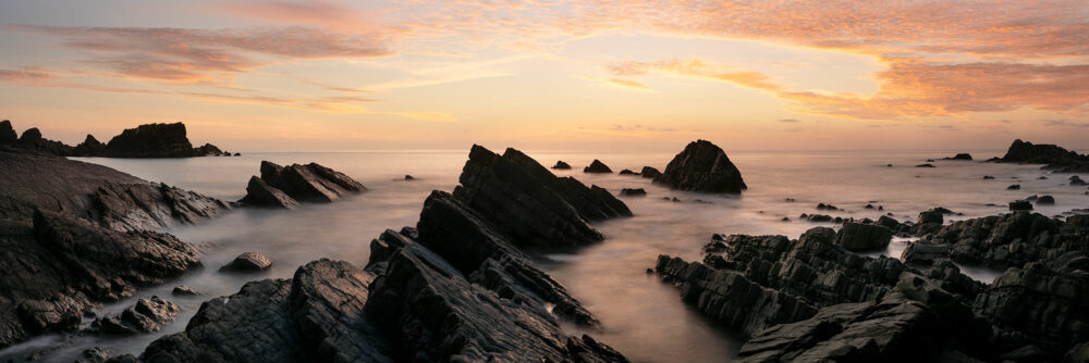
<svg viewBox="0 0 1089 363"><path fill-rule="evenodd" d="M332 202L367 190L344 173L317 163L280 166L262 161L260 171L260 177L249 178L240 204L291 209L299 201Z"/></svg>

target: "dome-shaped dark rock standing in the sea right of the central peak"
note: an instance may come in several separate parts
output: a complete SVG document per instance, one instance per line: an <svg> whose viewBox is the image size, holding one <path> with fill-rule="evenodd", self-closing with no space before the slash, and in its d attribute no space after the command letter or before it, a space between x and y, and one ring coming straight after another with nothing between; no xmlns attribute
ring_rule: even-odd
<svg viewBox="0 0 1089 363"><path fill-rule="evenodd" d="M688 143L654 183L674 189L737 193L747 189L742 173L721 148L707 140Z"/></svg>

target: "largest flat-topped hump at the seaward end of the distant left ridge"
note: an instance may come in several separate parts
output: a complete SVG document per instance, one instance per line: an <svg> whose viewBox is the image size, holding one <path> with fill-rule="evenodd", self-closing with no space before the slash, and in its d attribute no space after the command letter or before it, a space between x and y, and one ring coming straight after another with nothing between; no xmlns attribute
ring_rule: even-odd
<svg viewBox="0 0 1089 363"><path fill-rule="evenodd" d="M185 124L182 123L139 125L136 128L125 129L121 132L121 135L110 139L101 155L107 158L191 158L222 153L219 148L210 145L193 148L185 134Z"/></svg>

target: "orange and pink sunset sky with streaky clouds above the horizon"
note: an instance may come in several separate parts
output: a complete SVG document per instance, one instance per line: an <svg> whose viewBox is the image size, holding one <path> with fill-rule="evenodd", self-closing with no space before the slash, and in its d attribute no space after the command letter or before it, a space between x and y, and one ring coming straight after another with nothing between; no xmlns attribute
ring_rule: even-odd
<svg viewBox="0 0 1089 363"><path fill-rule="evenodd" d="M0 0L0 118L240 151L1089 149L1089 1Z"/></svg>

